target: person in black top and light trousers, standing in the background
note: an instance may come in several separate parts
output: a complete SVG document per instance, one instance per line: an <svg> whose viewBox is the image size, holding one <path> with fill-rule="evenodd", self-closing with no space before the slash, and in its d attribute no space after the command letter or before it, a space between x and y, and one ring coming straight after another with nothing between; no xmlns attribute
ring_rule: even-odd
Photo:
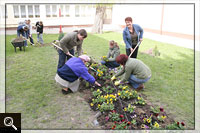
<svg viewBox="0 0 200 133"><path fill-rule="evenodd" d="M36 22L36 31L37 31L37 42L40 44L44 44L43 41L43 22Z"/></svg>

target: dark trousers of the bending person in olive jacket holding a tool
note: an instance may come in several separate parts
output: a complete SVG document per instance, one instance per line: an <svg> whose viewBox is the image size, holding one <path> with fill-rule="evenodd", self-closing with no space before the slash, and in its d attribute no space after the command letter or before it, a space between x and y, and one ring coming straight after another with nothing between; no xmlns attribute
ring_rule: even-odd
<svg viewBox="0 0 200 133"><path fill-rule="evenodd" d="M69 50L70 54L74 55L74 49L72 50ZM72 58L71 56L69 55L66 55L62 50L58 50L58 54L59 54L59 60L58 60L58 67L57 69L61 68L62 66L64 66L65 64L65 61L66 61L66 57L67 57L67 60L69 60L70 58Z"/></svg>

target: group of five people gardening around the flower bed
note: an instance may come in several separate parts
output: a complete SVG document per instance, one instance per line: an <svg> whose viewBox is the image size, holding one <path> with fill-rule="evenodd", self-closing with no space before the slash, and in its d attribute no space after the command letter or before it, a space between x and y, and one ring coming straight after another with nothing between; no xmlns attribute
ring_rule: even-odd
<svg viewBox="0 0 200 133"><path fill-rule="evenodd" d="M132 18L125 18L126 27L123 31L123 40L126 44L126 54L120 54L120 47L117 42L111 40L109 42L109 52L107 59L101 61L102 65L107 66L109 69L115 69L120 65L121 70L117 72L111 81L122 76L115 85L128 82L134 89L141 90L144 88L144 83L151 78L150 68L141 60L136 59L138 53L138 42L143 39L143 29L136 24L132 23ZM60 40L62 50L58 50L59 61L57 67L57 74L55 80L63 89L63 94L76 92L79 88L79 78L82 77L87 82L101 86L95 78L89 74L86 62L91 59L87 55L82 54L82 44L87 37L87 32L84 29L74 31L66 34ZM78 57L74 57L74 47L76 46ZM131 55L130 55L131 54ZM130 57L129 57L130 56Z"/></svg>

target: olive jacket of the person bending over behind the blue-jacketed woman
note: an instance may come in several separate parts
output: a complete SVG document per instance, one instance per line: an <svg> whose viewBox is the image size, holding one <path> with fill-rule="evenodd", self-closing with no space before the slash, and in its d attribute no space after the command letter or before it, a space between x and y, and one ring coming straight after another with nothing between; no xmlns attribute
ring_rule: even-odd
<svg viewBox="0 0 200 133"><path fill-rule="evenodd" d="M75 46L77 46L77 52L78 56L81 55L82 52L82 43L83 41L77 41L77 32L71 32L69 34L66 34L61 40L60 40L60 47L63 49L64 53L69 52L69 50L73 49Z"/></svg>

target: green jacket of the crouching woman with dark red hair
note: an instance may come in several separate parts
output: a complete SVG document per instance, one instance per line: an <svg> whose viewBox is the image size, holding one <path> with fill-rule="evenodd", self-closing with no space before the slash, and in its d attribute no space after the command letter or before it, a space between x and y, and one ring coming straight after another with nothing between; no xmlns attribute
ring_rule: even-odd
<svg viewBox="0 0 200 133"><path fill-rule="evenodd" d="M142 61L135 58L128 58L125 67L123 67L115 76L118 77L122 74L124 74L121 79L122 82L127 81L132 74L138 79L146 79L151 76L151 70Z"/></svg>

